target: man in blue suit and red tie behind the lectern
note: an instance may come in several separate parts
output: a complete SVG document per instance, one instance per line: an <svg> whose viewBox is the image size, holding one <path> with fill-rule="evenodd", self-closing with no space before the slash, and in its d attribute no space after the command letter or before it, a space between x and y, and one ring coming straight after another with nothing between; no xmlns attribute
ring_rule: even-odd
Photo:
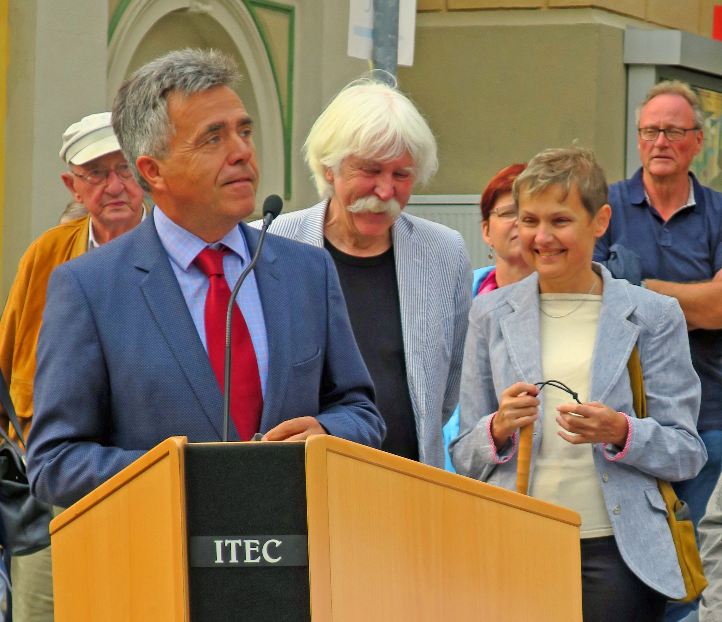
<svg viewBox="0 0 722 622"><path fill-rule="evenodd" d="M156 203L50 279L28 437L32 494L67 507L163 439L222 438L224 305L256 248L252 121L235 63L176 51L123 84L113 128ZM240 224L239 224L240 223ZM269 235L233 317L232 439L386 432L328 253Z"/></svg>

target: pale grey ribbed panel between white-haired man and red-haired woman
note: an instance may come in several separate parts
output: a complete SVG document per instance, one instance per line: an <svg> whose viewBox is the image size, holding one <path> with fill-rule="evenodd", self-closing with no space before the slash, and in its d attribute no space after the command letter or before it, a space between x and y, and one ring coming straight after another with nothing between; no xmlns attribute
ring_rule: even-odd
<svg viewBox="0 0 722 622"><path fill-rule="evenodd" d="M491 266L489 245L482 237L479 194L414 194L406 205L408 214L440 222L461 233L471 258L471 268Z"/></svg>

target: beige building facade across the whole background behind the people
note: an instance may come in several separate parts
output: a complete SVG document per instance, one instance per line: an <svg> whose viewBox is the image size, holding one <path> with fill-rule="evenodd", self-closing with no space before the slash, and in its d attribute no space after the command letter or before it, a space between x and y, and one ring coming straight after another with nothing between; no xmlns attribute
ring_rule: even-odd
<svg viewBox="0 0 722 622"><path fill-rule="evenodd" d="M109 105L106 80L115 82L108 79L108 28L118 27L118 11L143 3L143 11L173 5L195 12L157 22L155 30L149 23L148 37L129 64L133 69L176 42L217 40L234 52L219 9L234 3L248 8L253 1L9 0L3 299L20 256L57 222L67 201L59 179L61 132ZM599 154L609 180L622 178L625 27L674 27L709 36L715 1L418 0L415 62L399 69L399 80L429 118L440 149L438 176L419 191L479 193L501 167L574 140ZM331 97L369 66L346 53L348 0L277 2L295 9L291 197L285 206L291 210L318 201L302 154L310 126ZM216 8L208 12L208 6ZM88 15L92 19L79 17ZM261 21L272 53L283 56L289 42L281 40L277 17L266 12ZM247 58L239 61L248 69ZM290 68L281 69L287 76ZM243 89L249 108L260 115L263 97L248 92L248 84ZM285 85L282 91L287 97ZM268 131L260 128L259 135Z"/></svg>

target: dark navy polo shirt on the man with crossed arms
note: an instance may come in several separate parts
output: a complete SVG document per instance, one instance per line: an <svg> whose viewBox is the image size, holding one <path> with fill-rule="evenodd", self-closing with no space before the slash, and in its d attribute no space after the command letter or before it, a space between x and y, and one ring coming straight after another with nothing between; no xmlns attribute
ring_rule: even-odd
<svg viewBox="0 0 722 622"><path fill-rule="evenodd" d="M631 179L610 185L612 221L596 243L594 260L606 260L609 247L621 244L639 255L642 279L712 279L722 268L722 194L691 177L696 205L680 209L667 222L647 201L641 168ZM690 331L690 351L702 381L697 429L722 429L722 330Z"/></svg>

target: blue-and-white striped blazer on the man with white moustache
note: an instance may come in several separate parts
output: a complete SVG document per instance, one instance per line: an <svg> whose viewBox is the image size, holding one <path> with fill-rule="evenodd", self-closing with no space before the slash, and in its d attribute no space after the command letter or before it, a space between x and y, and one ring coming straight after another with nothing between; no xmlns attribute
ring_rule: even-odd
<svg viewBox="0 0 722 622"><path fill-rule="evenodd" d="M323 248L328 200L282 214L269 232ZM261 221L251 223L259 229ZM401 331L419 460L444 468L441 432L456 408L471 308L471 262L461 235L401 213L391 228Z"/></svg>

